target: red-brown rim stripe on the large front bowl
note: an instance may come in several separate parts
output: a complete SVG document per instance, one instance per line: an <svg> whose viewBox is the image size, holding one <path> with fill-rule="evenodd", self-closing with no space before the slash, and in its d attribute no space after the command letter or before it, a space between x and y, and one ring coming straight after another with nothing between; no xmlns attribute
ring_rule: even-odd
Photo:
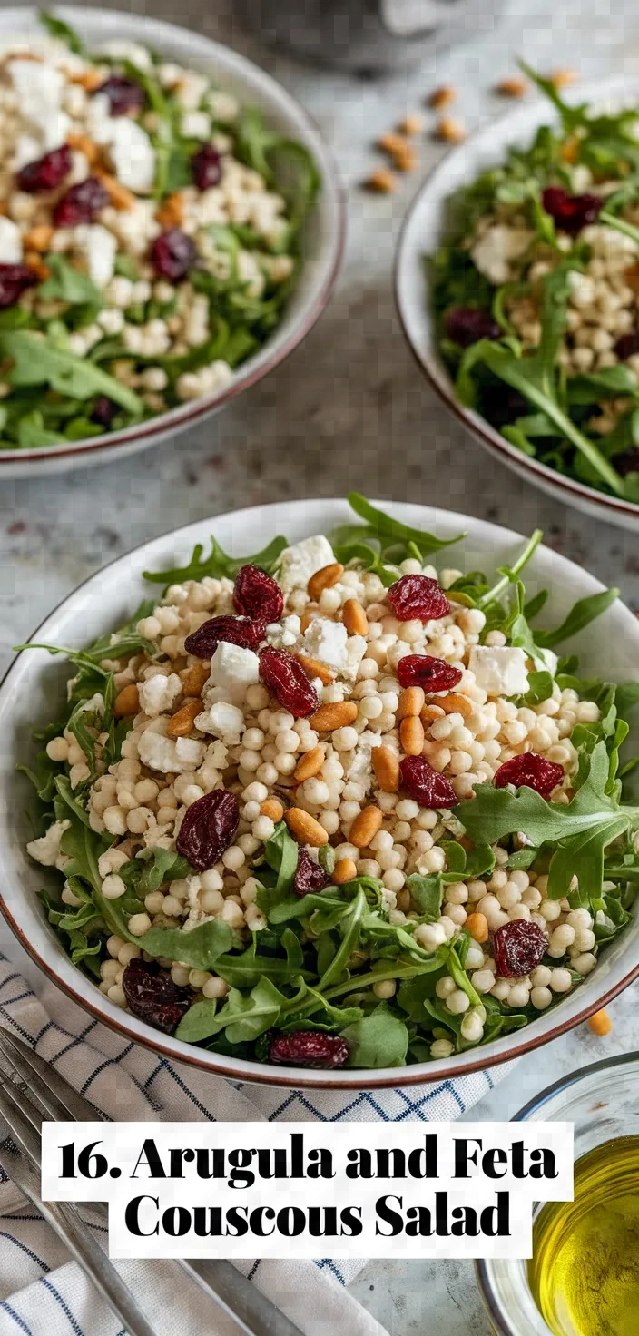
<svg viewBox="0 0 639 1336"><path fill-rule="evenodd" d="M307 500L311 498L309 497ZM318 498L318 500L325 500L325 498ZM170 538L175 532L176 532L175 529L168 529L164 534L159 534L159 538L162 537ZM135 548L131 548L131 550L128 553L124 553L123 556L131 556L134 552L140 552L143 548L146 548L146 542L139 542ZM106 565L100 568L100 570L108 570L108 568L115 565L118 561L122 561L122 556L114 557L111 561L107 561ZM72 593L78 593L80 589L84 588L84 585L90 584L90 581L95 578L95 574L96 572L94 572L91 576L87 576L86 580L83 580L79 585L76 585ZM33 637L39 635L41 627L45 625L49 617L52 617L53 613L56 613L68 601L68 599L70 595L66 595L64 599L60 599L60 601L51 609L51 612L47 613L43 621L35 628L29 640L33 640ZM4 683L9 676L9 673L12 672L16 660L13 660L9 664L7 672L3 675L3 679L0 680L0 689L4 687ZM237 1071L234 1067L227 1067L225 1062L219 1061L215 1055L205 1058L203 1053L205 1051L213 1053L213 1050L198 1049L195 1047L195 1045L193 1045L193 1049L190 1046L186 1046L187 1049L186 1053L179 1053L179 1054L172 1053L171 1049L167 1049L163 1045L162 1039L159 1038L159 1031L154 1030L152 1026L147 1026L148 1035L132 1037L131 1031L118 1019L115 1019L115 1017L106 1015L98 1006L94 1006L91 1001L87 1001L87 998L82 997L82 994L76 993L70 983L63 982L55 973L55 970L49 965L47 965L47 962L39 955L39 953L33 947L32 942L28 941L23 930L17 926L1 891L0 891L0 912L9 925L17 941L20 942L23 950L27 953L27 955L31 957L32 961L35 961L35 963L43 971L43 974L45 974L47 978L49 978L51 982L56 985L56 987L61 989L61 991L66 993L72 1002L75 1002L79 1007L83 1007L84 1010L90 1011L96 1021L100 1021L103 1025L108 1026L108 1029L115 1030L116 1034L123 1035L132 1043L140 1043L143 1047L151 1049L154 1053L159 1053L162 1057L167 1058L171 1062L187 1062L190 1066L199 1067L199 1070L202 1071L210 1071L211 1075L229 1077L233 1081L243 1081L246 1083L254 1083L254 1085L285 1086L286 1089L291 1088L310 1089L310 1090L362 1090L362 1089L374 1090L384 1088L393 1089L396 1086L426 1085L429 1083L429 1079L430 1083L434 1085L441 1081L452 1079L453 1077L468 1075L471 1071L483 1071L485 1067L499 1066L501 1062L511 1062L513 1058L520 1058L525 1053L531 1053L533 1049L541 1047L544 1043L551 1043L552 1039L557 1039L559 1035L567 1034L568 1030L575 1029L576 1025L580 1025L583 1021L587 1021L588 1017L595 1015L596 1011L600 1011L603 1007L608 1006L608 1003L612 1002L614 998L616 998L620 993L624 991L624 989L630 987L630 985L634 983L636 978L639 978L639 963L638 963L634 966L634 969L630 970L630 973L623 979L620 979L620 982L615 987L610 989L610 991L606 993L602 998L598 998L596 1002L592 1002L588 1006L586 1006L583 1011L572 1017L569 1021L563 1021L560 1025L555 1026L555 1029L551 1030L549 1034L545 1034L543 1037L540 1035L539 1038L533 1035L525 1043L520 1043L515 1049L509 1049L508 1053L481 1055L481 1046L480 1046L476 1050L477 1051L476 1061L473 1059L473 1062L465 1063L461 1067L456 1066L455 1062L452 1062L451 1069L446 1069L445 1073L440 1073L440 1075L432 1075L430 1078L428 1075L426 1063L416 1063L413 1067L410 1066L397 1067L396 1069L397 1075L393 1071L393 1074L388 1077L376 1077L374 1070L366 1070L365 1071L366 1079L364 1083L364 1078L362 1077L357 1078L356 1075L353 1077L349 1075L349 1079L346 1081L341 1079L341 1071L333 1073L332 1082L322 1082L320 1071L318 1077L311 1078L307 1074L307 1069L303 1067L301 1069L281 1067L278 1070L278 1067L275 1066L269 1066L267 1063L259 1063L259 1062L253 1063L253 1066L255 1067L255 1077L253 1077L251 1074L242 1074ZM98 985L96 985L96 991L98 991ZM136 1017L136 1019L139 1018ZM535 1022L531 1023L535 1025ZM425 1070L421 1070L421 1067L425 1067ZM349 1069L349 1071L350 1070L353 1070L354 1073L357 1069L353 1067ZM364 1069L361 1070L364 1071ZM336 1077L338 1077L340 1079L336 1079Z"/></svg>

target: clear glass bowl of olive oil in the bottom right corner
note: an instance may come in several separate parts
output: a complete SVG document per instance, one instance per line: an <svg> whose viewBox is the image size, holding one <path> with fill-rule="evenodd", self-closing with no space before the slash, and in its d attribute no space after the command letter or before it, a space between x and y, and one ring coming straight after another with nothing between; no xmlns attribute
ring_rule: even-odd
<svg viewBox="0 0 639 1336"><path fill-rule="evenodd" d="M575 1124L575 1198L535 1208L528 1261L479 1261L496 1336L639 1336L639 1053L595 1062L515 1121Z"/></svg>

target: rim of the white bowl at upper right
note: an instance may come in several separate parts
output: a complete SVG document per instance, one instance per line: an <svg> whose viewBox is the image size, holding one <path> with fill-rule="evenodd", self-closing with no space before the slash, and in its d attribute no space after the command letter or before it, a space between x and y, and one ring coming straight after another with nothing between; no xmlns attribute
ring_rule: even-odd
<svg viewBox="0 0 639 1336"><path fill-rule="evenodd" d="M635 95L639 99L639 77L631 75L611 75L608 79L598 80L598 83L591 81L586 84L579 84L576 90L573 88L569 91L567 100L571 99L575 100L579 96L579 102L595 103L598 100L600 102L607 95L614 94L615 90L622 92L623 90L630 90L631 87L634 88ZM535 124L541 123L540 120L537 122L536 112L545 106L547 104L541 100L541 96L539 96L535 102L521 106L517 110L523 119L524 116L529 116L532 123L531 124L532 130ZM547 116L548 119L552 119L552 110L547 111ZM413 337L413 322L410 321L410 317L406 311L406 305L402 293L402 281L404 281L405 266L408 266L412 255L408 240L410 235L410 228L414 223L414 218L424 203L424 198L432 192L437 195L440 176L445 176L451 160L455 156L460 158L464 154L468 156L468 152L471 152L472 158L473 151L476 148L480 148L483 146L483 142L491 138L491 135L495 132L495 128L505 126L509 120L512 120L512 111L501 112L499 116L492 116L488 122L484 122L481 126L473 130L472 134L468 135L468 138L464 140L464 143L452 146L444 154L440 162L436 163L432 171L428 172L422 184L417 190L417 194L410 200L409 208L400 228L400 236L397 240L397 247L393 261L393 294L394 294L397 314L400 317L402 334L410 349L410 353L414 357L414 361L425 374L428 382L430 383L437 397L441 399L442 403L445 403L449 411L453 413L457 421L461 422L461 425L465 426L467 430L471 430L472 436L475 436L475 438L479 440L481 445L487 446L487 449L491 450L492 454L497 454L509 466L516 465L517 472L523 474L528 472L536 485L547 486L552 490L555 489L559 489L560 492L563 490L565 493L567 501L575 501L576 504L579 504L579 501L586 501L591 505L594 504L602 506L602 510L612 510L616 514L635 517L639 522L639 502L624 501L622 497L614 497L608 496L606 492L598 492L596 488L590 488L586 482L579 482L575 478L568 478L563 473L557 473L555 469L551 469L549 465L541 464L539 460L532 460L521 450L517 450L515 445L511 445L511 442L507 441L505 437L503 437L501 433L496 430L496 428L492 428L491 424L487 422L487 420L483 418L479 413L460 403L460 401L455 394L455 386L438 355L434 351L424 353L418 347L417 339ZM444 199L444 195L441 198ZM436 240L438 243L440 238L436 238ZM426 281L424 319L429 326L434 329L433 317L429 309L429 295L430 295L430 286ZM606 516L602 516L602 518L606 518Z"/></svg>

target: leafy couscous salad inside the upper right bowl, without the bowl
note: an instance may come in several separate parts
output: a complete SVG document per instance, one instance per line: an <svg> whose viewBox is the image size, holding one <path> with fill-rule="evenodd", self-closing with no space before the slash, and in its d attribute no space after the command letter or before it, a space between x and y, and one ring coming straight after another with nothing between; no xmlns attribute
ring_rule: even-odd
<svg viewBox="0 0 639 1336"><path fill-rule="evenodd" d="M568 106L449 200L429 262L459 399L524 454L639 504L639 112Z"/></svg>

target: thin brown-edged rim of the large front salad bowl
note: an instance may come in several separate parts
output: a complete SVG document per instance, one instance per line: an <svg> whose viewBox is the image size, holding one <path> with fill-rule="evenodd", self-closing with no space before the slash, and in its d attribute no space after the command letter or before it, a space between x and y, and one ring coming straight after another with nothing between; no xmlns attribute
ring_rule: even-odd
<svg viewBox="0 0 639 1336"><path fill-rule="evenodd" d="M102 580L104 572L110 570L112 566L116 566L120 562L126 565L131 557L142 554L151 544L156 542L162 544L168 540L171 541L176 540L179 542L180 537L186 538L187 534L193 534L193 530L199 525L213 524L213 526L215 526L217 521L221 521L230 516L242 517L242 525L241 525L242 529L245 529L245 526L250 524L251 514L257 516L258 513L259 514L266 513L267 517L273 516L273 524L277 525L281 524L282 510L290 513L291 508L301 509L313 504L340 505L342 501L344 498L341 497L313 497L313 498L309 497L305 498L303 501L285 501L283 504L271 502L267 505L247 506L239 510L227 510L223 512L223 514L214 516L211 520L205 518L205 520L191 521L187 525L180 525L178 529L167 529L164 533L158 534L147 541L139 542L128 552L118 557L114 557L111 561L106 562L104 566L100 566L99 570L94 572L92 574L87 576L83 581L80 581L80 584L78 584L68 595L60 599L59 603L45 615L45 617L39 623L39 625L31 633L29 640L37 637L41 628L45 627L47 623L56 616L56 613L60 613L71 600L75 600L78 595L80 595L80 592L86 589L92 581ZM389 502L384 501L373 501L372 504L386 505L386 506L389 505ZM390 506L396 506L400 510L408 509L405 502L390 502ZM432 506L422 506L422 505L420 505L420 509L430 512L434 510L434 508ZM472 524L476 525L481 525L483 530L485 530L487 533L487 537L491 537L491 534L495 536L499 534L501 540L507 537L508 541L511 540L519 542L524 541L521 534L516 533L512 529L507 529L503 525L491 524L477 517L463 516L459 512L453 510L446 510L445 514L451 521L455 521L456 524L459 522L460 525L468 521L472 521ZM541 544L540 550L544 550L544 546L545 545ZM549 552L551 549L545 550ZM569 561L567 557L563 557L559 553L552 552L552 558L559 564L565 564L567 566L575 566L575 562ZM591 576L590 578L594 582L596 582L600 589L604 588L600 584L600 581L595 580L594 576ZM628 617L630 616L631 613L628 612ZM11 679L13 677L13 673L16 675L19 673L20 660L21 656L17 655L7 668L5 673L3 675L0 680L0 699L4 696L5 689ZM130 1042L132 1041L140 1043L143 1047L151 1049L152 1051L160 1054L163 1058L167 1058L168 1061L186 1062L190 1066L198 1067L202 1071L209 1071L211 1075L213 1074L222 1075L231 1078L234 1081L245 1081L247 1083L255 1083L255 1085L281 1086L286 1089L291 1088L315 1089L315 1090L341 1089L341 1090L361 1092L361 1090L374 1090L385 1088L417 1086L426 1083L438 1085L438 1083L445 1083L446 1081L455 1077L471 1075L475 1071L485 1071L488 1067L511 1062L515 1058L523 1057L524 1054L531 1053L532 1050L541 1047L545 1043L549 1043L551 1041L559 1038L561 1034L565 1034L576 1025L580 1025L583 1021L587 1021L588 1017L594 1015L596 1011L600 1011L603 1007L608 1006L608 1003L612 1002L614 998L619 995L619 993L624 991L624 989L627 989L631 983L635 982L636 978L639 978L639 961L638 961L638 963L634 965L604 994L600 994L596 997L596 999L586 1003L571 1017L560 1019L560 1022L557 1025L553 1025L551 1030L545 1031L540 1029L539 1033L535 1033L533 1025L525 1026L525 1031L529 1030L533 1031L532 1037L528 1038L525 1042L519 1042L515 1045L507 1043L505 1049L500 1050L497 1047L497 1051L492 1053L487 1053L487 1049L484 1049L480 1045L477 1049L471 1050L471 1053L473 1054L472 1057L469 1055L469 1051L467 1051L463 1055L459 1055L464 1059L461 1063L456 1061L455 1057L452 1057L452 1058L438 1059L437 1062L433 1063L420 1062L404 1067L385 1067L385 1069L341 1067L328 1073L324 1071L322 1069L283 1067L283 1066L279 1067L279 1066L267 1066L266 1063L262 1065L257 1062L249 1062L246 1059L239 1059L239 1058L226 1058L221 1054L215 1054L213 1050L199 1049L197 1047L197 1045L190 1045L183 1041L178 1041L172 1035L164 1037L162 1031L155 1030L152 1026L146 1025L138 1018L134 1018L136 1027L132 1031L127 1023L119 1019L119 1014L115 1009L111 1010L110 1007L106 1007L104 1003L100 1005L98 1002L98 998L92 1001L94 994L98 993L98 989L96 986L92 985L91 979L87 979L82 974L82 970L79 967L75 969L74 978L75 974L78 974L79 979L84 979L84 982L88 985L86 990L87 995L78 991L71 982L67 982L66 979L60 978L60 975L56 973L55 966L49 963L49 961L44 955L40 954L37 947L27 937L23 927L20 927L9 904L7 903L1 883L0 883L0 912L3 914L5 922L11 927L17 941L20 942L23 950L33 961L33 963L37 965L37 967L47 975L47 978L51 979L51 982L56 987L61 989L61 991L66 993L72 1002L75 1002L84 1010L90 1011L90 1014L95 1019L107 1025L108 1029L114 1030L116 1034L122 1035ZM63 947L60 947L60 950L63 950ZM576 995L579 995L579 993ZM98 993L98 997L102 995ZM138 1026L142 1027L140 1033L138 1031ZM501 1042L504 1041L495 1041L495 1045L489 1045L487 1047L495 1049ZM360 1075L357 1075L357 1071L360 1071Z"/></svg>

